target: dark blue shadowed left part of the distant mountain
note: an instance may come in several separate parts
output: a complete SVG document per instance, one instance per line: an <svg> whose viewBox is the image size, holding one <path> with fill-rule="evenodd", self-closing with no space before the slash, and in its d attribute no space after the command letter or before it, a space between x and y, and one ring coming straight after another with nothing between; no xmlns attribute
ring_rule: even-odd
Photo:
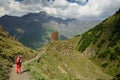
<svg viewBox="0 0 120 80"><path fill-rule="evenodd" d="M34 16L33 18L28 17L6 15L0 18L0 24L3 25L12 36L21 41L24 45L31 48L40 47L45 42L44 38L48 38L47 31L42 27L41 22L34 20Z"/></svg>

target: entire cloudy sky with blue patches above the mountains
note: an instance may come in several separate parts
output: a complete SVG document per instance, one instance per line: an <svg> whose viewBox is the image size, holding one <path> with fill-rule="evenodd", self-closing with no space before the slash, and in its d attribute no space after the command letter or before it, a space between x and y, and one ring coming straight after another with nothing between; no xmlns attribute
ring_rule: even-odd
<svg viewBox="0 0 120 80"><path fill-rule="evenodd" d="M104 19L120 8L120 0L0 0L0 16L46 11L62 18Z"/></svg>

